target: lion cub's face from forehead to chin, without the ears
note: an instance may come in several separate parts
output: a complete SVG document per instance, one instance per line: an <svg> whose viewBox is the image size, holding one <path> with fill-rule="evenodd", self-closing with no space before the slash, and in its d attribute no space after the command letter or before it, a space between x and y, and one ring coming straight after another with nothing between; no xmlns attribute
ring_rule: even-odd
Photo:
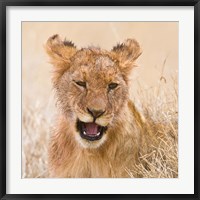
<svg viewBox="0 0 200 200"><path fill-rule="evenodd" d="M117 64L99 53L96 49L78 52L59 88L60 98L66 98L73 114L79 141L90 146L104 141L128 94Z"/></svg>

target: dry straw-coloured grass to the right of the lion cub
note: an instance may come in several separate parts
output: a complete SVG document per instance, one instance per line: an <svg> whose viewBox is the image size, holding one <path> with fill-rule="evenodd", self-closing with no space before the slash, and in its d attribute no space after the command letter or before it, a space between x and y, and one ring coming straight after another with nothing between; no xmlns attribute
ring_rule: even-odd
<svg viewBox="0 0 200 200"><path fill-rule="evenodd" d="M127 172L133 177L144 178L178 177L178 96L177 86L171 93L159 85L143 93L140 109L148 124L148 132L158 135L155 144L149 144L149 152L140 155L140 164ZM142 93L140 93L142 95ZM152 95L152 94L157 94ZM133 173L134 172L134 173Z"/></svg>

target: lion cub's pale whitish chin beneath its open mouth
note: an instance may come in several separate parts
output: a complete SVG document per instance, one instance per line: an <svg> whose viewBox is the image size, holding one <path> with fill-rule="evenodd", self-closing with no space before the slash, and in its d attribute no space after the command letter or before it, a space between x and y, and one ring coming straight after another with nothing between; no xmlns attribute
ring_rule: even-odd
<svg viewBox="0 0 200 200"><path fill-rule="evenodd" d="M104 134L100 140L89 141L89 140L83 139L80 136L80 133L76 132L75 138L76 138L76 141L78 142L78 144L82 148L84 148L84 149L97 149L105 143L105 141L107 139L107 135Z"/></svg>

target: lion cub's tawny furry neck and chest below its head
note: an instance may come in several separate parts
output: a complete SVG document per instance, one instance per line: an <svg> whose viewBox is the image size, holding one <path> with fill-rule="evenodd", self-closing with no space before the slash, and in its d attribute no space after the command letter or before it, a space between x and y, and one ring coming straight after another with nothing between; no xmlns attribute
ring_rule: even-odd
<svg viewBox="0 0 200 200"><path fill-rule="evenodd" d="M126 168L136 162L139 146L138 124L141 120L129 102L108 139L99 148L84 149L75 140L66 118L59 120L58 130L50 141L49 164L55 177L126 177ZM138 119L137 119L138 118Z"/></svg>

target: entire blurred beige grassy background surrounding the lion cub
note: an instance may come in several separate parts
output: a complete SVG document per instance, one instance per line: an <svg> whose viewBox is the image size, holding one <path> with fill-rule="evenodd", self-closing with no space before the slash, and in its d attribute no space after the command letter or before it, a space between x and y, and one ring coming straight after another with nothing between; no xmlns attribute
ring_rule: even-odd
<svg viewBox="0 0 200 200"><path fill-rule="evenodd" d="M172 137L141 158L150 163L150 172L142 165L135 170L143 177L177 177L177 22L22 22L22 177L48 177L47 145L57 110L44 45L53 34L78 48L110 50L127 38L140 43L143 53L130 77L130 96L141 112L162 124L158 131ZM131 170L128 173L132 176Z"/></svg>

